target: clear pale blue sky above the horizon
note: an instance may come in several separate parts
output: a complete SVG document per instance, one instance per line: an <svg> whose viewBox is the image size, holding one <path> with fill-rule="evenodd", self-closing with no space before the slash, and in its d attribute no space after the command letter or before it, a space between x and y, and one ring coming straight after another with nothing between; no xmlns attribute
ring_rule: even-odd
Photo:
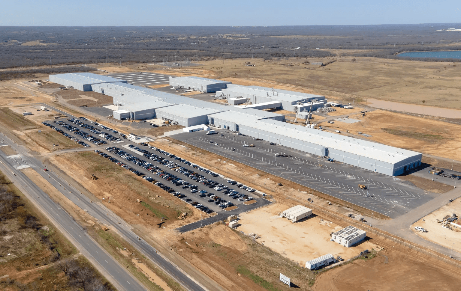
<svg viewBox="0 0 461 291"><path fill-rule="evenodd" d="M459 23L459 1L7 0L0 25L183 26Z"/></svg>

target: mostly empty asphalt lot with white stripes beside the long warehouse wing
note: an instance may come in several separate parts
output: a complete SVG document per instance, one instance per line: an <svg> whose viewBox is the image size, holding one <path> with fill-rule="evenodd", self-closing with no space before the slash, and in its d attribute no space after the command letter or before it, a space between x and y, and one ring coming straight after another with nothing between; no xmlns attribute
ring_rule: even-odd
<svg viewBox="0 0 461 291"><path fill-rule="evenodd" d="M224 129L215 130L218 134L196 131L176 134L173 138L391 218L436 197L436 194L424 192L406 181L395 181L392 177L348 164L329 163L303 151L270 145L264 140L255 141L252 137L231 134ZM210 144L211 140L218 145ZM243 144L254 144L254 147L244 147ZM275 157L275 153L293 157ZM358 184L368 186L368 190L360 189Z"/></svg>

